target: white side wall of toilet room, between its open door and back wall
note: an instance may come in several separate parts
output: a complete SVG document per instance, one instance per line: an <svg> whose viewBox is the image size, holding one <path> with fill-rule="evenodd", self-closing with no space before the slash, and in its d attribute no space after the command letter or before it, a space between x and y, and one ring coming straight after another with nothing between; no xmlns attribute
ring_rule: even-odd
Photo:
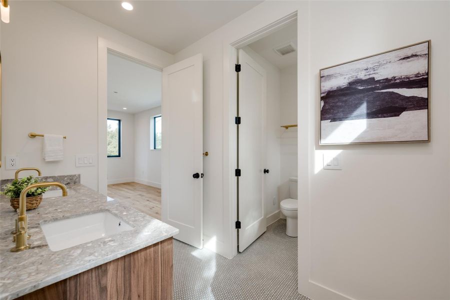
<svg viewBox="0 0 450 300"><path fill-rule="evenodd" d="M272 213L279 211L278 185L280 176L280 155L279 155L279 111L280 111L280 71L264 59L253 49L246 46L243 50L256 61L267 73L266 83L266 165L269 173L265 175L264 185L264 212L265 216L270 216ZM241 157L242 159L242 157ZM243 158L244 159L244 158ZM273 201L275 197L275 201ZM217 210L213 208L213 210ZM214 211L203 210L204 214L214 213ZM272 218L278 219L279 214ZM203 224L204 227L211 224Z"/></svg>

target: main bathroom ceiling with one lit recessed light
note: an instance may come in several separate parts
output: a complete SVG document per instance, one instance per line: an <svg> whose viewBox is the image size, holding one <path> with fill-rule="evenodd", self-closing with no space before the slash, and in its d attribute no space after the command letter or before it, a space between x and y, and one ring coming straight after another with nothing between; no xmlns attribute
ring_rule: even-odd
<svg viewBox="0 0 450 300"><path fill-rule="evenodd" d="M59 0L57 3L169 53L176 53L262 1Z"/></svg>

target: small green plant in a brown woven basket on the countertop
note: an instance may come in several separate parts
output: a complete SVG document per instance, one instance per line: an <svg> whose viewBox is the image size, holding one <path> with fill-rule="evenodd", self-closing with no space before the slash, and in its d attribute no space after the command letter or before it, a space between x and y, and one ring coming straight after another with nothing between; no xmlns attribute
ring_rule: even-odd
<svg viewBox="0 0 450 300"><path fill-rule="evenodd" d="M14 179L14 181L12 181L11 183L6 184L3 194L9 196L11 206L12 208L14 208L14 210L19 208L20 192L28 185L37 182L40 182L39 179L34 178L34 176L32 175L29 175L28 177ZM48 187L31 188L26 193L26 210L34 209L39 206L40 202L42 201L42 194L47 189Z"/></svg>

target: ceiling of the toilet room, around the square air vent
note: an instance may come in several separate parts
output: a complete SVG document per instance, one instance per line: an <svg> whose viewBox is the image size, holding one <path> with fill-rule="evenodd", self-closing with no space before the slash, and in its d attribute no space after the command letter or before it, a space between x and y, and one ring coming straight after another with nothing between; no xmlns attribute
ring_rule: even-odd
<svg viewBox="0 0 450 300"><path fill-rule="evenodd" d="M252 42L248 46L256 53L264 57L271 64L279 69L291 66L297 63L297 51L288 53L284 56L277 54L273 48L292 41L295 49L297 48L297 23L293 22L269 35Z"/></svg>

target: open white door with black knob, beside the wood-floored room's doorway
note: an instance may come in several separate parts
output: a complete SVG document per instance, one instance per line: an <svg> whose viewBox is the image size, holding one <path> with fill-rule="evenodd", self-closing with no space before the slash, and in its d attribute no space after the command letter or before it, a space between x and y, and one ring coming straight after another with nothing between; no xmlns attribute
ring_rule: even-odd
<svg viewBox="0 0 450 300"><path fill-rule="evenodd" d="M202 55L162 70L162 221L203 247ZM197 176L198 175L198 176Z"/></svg>

